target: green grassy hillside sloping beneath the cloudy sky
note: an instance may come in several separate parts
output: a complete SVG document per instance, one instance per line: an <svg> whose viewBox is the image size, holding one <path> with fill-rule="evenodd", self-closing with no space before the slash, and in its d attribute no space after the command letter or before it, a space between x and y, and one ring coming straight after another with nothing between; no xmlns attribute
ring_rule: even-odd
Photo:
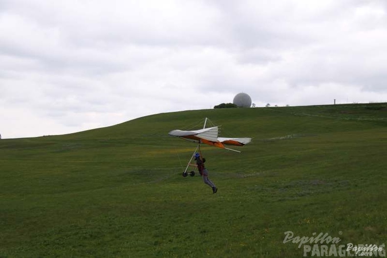
<svg viewBox="0 0 387 258"><path fill-rule="evenodd" d="M181 176L195 144L168 136L205 117L253 138L240 154L202 146L216 194ZM386 103L157 114L0 154L0 258L289 258L305 246L288 231L387 239Z"/></svg>

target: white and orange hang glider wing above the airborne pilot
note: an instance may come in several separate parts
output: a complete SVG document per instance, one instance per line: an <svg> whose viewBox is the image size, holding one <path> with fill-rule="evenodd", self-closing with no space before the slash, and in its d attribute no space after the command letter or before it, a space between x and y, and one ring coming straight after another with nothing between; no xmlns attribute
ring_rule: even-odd
<svg viewBox="0 0 387 258"><path fill-rule="evenodd" d="M251 141L251 138L218 137L218 134L219 134L218 126L205 128L207 119L208 118L206 118L204 122L203 129L192 130L192 131L172 130L168 134L187 141L195 142L197 144L204 143L218 148L223 148L223 149L232 150L236 152L240 152L240 151L227 148L225 145L244 146Z"/></svg>

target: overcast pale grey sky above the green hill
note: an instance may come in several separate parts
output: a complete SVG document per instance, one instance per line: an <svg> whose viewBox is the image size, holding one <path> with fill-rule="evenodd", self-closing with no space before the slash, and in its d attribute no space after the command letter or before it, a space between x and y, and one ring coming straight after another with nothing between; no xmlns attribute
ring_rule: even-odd
<svg viewBox="0 0 387 258"><path fill-rule="evenodd" d="M386 0L0 0L0 134L58 135L239 92L387 102Z"/></svg>

